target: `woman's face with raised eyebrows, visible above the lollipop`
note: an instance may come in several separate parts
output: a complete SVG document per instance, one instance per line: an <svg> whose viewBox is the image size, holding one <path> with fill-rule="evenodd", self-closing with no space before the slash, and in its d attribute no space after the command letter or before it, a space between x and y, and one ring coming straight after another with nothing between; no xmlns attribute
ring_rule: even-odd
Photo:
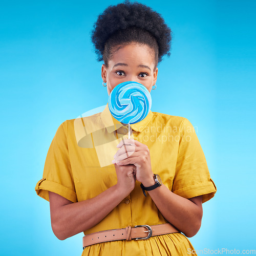
<svg viewBox="0 0 256 256"><path fill-rule="evenodd" d="M157 81L158 69L154 70L153 50L146 45L132 43L115 52L109 60L109 67L103 64L101 76L108 89L108 94L121 82L141 83L151 92Z"/></svg>

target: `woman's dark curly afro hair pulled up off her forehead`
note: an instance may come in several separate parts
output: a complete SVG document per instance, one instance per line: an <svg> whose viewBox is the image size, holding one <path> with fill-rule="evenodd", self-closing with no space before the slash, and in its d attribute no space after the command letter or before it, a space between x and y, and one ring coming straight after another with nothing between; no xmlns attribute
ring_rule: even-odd
<svg viewBox="0 0 256 256"><path fill-rule="evenodd" d="M97 60L104 60L108 66L114 47L132 41L154 49L156 61L160 62L164 55L170 56L171 33L159 13L138 2L125 1L109 6L98 16L91 38Z"/></svg>

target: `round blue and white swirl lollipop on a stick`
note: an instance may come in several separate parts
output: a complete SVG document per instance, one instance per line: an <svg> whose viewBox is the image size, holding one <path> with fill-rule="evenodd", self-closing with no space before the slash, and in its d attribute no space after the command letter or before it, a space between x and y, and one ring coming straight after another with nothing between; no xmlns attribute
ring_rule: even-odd
<svg viewBox="0 0 256 256"><path fill-rule="evenodd" d="M150 92L138 82L119 83L109 96L109 109L119 122L129 124L143 120L150 112ZM130 137L130 132L129 132Z"/></svg>

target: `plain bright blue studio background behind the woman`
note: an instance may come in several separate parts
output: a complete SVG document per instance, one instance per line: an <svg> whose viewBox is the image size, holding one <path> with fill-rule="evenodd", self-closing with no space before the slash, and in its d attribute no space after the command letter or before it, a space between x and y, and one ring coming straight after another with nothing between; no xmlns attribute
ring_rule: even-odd
<svg viewBox="0 0 256 256"><path fill-rule="evenodd" d="M58 126L108 102L90 41L118 1L3 1L0 8L1 255L80 255L59 241L34 190ZM195 249L255 248L255 1L142 1L174 33L152 111L195 127L217 194ZM254 71L254 72L253 72Z"/></svg>

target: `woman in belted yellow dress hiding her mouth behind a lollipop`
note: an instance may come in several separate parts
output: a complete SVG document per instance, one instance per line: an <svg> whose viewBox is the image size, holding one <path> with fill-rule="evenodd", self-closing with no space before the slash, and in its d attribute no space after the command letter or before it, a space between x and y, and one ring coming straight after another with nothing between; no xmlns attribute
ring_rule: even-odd
<svg viewBox="0 0 256 256"><path fill-rule="evenodd" d="M124 81L154 90L170 39L162 17L147 6L107 8L92 40L98 60L104 60L108 94ZM193 125L150 111L131 124L127 139L126 125L111 116L108 104L81 123L82 139L77 119L59 126L36 185L37 194L50 201L56 237L83 231L82 255L191 253L187 237L198 232L202 203L216 193Z"/></svg>

